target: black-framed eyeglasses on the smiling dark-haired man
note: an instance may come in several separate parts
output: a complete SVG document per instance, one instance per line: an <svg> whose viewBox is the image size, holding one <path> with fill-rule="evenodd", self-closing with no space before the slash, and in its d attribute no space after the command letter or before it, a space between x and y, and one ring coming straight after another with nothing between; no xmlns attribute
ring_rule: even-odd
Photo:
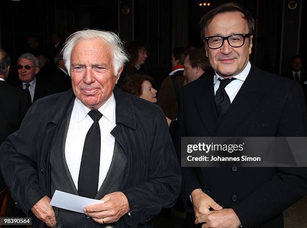
<svg viewBox="0 0 307 228"><path fill-rule="evenodd" d="M250 34L234 34L228 37L205 37L209 48L218 49L223 46L224 41L227 40L228 44L233 48L239 48L244 45L245 38L250 37Z"/></svg>

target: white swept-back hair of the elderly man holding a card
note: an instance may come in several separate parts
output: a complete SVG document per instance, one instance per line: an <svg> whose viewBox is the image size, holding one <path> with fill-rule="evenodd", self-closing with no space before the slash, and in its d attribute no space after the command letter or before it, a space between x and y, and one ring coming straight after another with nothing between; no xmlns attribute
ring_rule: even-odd
<svg viewBox="0 0 307 228"><path fill-rule="evenodd" d="M113 32L99 31L99 30L82 30L72 34L67 40L62 50L65 67L70 74L70 56L72 49L78 41L100 38L109 46L113 56L114 73L117 75L119 69L128 60L127 55L123 50L123 43L119 37Z"/></svg>

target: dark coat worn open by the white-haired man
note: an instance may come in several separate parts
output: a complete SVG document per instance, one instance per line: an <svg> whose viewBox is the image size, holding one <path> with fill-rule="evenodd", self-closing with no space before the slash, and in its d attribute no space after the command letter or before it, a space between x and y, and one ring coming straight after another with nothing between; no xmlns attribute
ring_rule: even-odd
<svg viewBox="0 0 307 228"><path fill-rule="evenodd" d="M126 214L121 217L113 227L131 227L130 222L134 228L144 224L153 214L158 214L161 208L175 203L181 174L163 111L157 105L118 88L114 89L114 97L116 127L111 134L115 138L114 154L121 156L113 156L109 169L111 176L107 175L102 184L105 188L96 198L110 190L122 191L128 199L131 216ZM74 99L72 90L69 90L35 102L20 130L0 147L1 170L16 204L27 214L44 195L51 197L53 194L50 175L51 168L55 167L50 167L54 161L54 157L50 157L56 156L51 154L53 151L64 154L59 148L63 143L58 143L63 138L58 138L58 135L65 135L61 130L62 123L66 115L70 115L68 110ZM119 158L123 158L124 162L116 161ZM70 176L68 173L62 175ZM117 177L122 181L118 183ZM66 181L66 184L69 183L72 183L71 177ZM77 193L73 186L68 190ZM82 219L87 219L81 215ZM36 220L34 227L43 225ZM141 227L151 225L146 223Z"/></svg>

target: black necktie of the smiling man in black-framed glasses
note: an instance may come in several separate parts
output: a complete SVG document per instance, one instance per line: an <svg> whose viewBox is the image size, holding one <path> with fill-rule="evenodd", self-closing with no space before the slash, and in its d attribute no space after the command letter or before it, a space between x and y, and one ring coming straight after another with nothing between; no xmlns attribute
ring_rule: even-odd
<svg viewBox="0 0 307 228"><path fill-rule="evenodd" d="M216 91L214 98L216 112L219 119L221 119L221 117L225 115L226 111L230 106L230 99L225 91L225 87L233 80L235 80L235 78L228 78L228 79L219 78L220 86L219 89Z"/></svg>

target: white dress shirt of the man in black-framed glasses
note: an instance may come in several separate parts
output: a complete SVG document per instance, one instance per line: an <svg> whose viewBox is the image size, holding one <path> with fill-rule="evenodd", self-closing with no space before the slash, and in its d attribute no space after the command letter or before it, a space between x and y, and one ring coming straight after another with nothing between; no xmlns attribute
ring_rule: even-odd
<svg viewBox="0 0 307 228"><path fill-rule="evenodd" d="M247 75L250 71L251 68L251 64L250 62L247 63L246 67L243 69L243 71L236 75L233 76L232 78L236 78L236 80L231 81L226 87L225 87L225 91L230 99L230 103L232 103L232 101L234 100L234 98L236 97L237 93L239 92L241 86L243 85L245 79L247 78ZM216 91L218 90L219 86L220 86L220 81L218 80L219 78L221 78L222 80L224 80L224 78L220 77L216 72L214 75L214 79L213 79L213 84L214 84L214 94L216 94Z"/></svg>

